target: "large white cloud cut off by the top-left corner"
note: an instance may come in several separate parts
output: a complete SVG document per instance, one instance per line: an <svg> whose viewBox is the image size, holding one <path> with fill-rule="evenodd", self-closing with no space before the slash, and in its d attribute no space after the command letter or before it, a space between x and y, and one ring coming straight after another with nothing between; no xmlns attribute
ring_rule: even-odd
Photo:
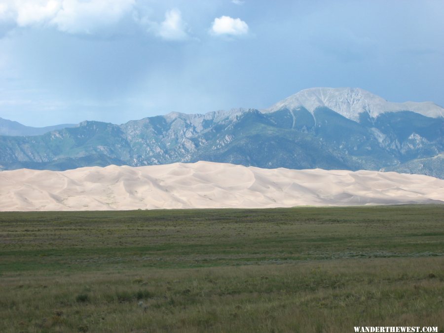
<svg viewBox="0 0 444 333"><path fill-rule="evenodd" d="M92 34L118 22L134 5L135 0L6 0L0 5L0 21Z"/></svg>

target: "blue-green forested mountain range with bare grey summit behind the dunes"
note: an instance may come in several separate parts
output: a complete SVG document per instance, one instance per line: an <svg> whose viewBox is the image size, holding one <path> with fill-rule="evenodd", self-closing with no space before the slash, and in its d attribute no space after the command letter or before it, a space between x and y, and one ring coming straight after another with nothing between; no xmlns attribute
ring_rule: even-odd
<svg viewBox="0 0 444 333"><path fill-rule="evenodd" d="M84 121L41 135L0 136L0 170L199 160L444 178L444 109L387 102L359 88L311 88L261 111L171 112L121 125Z"/></svg>

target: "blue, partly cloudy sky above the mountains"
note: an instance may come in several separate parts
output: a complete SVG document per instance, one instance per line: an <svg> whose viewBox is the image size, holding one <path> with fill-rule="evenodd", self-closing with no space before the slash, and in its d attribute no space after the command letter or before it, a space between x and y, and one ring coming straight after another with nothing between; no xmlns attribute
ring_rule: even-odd
<svg viewBox="0 0 444 333"><path fill-rule="evenodd" d="M0 117L116 124L311 87L444 106L444 1L0 0Z"/></svg>

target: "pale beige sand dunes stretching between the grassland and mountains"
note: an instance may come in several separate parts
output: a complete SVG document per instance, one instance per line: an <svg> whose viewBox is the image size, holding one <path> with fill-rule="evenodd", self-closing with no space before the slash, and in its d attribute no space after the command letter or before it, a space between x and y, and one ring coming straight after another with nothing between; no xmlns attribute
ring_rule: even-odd
<svg viewBox="0 0 444 333"><path fill-rule="evenodd" d="M226 163L0 172L0 211L444 203L444 180L395 172Z"/></svg>

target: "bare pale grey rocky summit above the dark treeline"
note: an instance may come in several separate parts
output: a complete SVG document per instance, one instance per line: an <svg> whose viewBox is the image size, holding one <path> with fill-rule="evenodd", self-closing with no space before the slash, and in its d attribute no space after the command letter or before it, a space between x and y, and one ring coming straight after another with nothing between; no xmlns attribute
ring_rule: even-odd
<svg viewBox="0 0 444 333"><path fill-rule="evenodd" d="M362 112L377 117L384 112L413 111L428 117L444 117L444 108L433 102L388 102L382 97L360 88L310 88L276 103L263 112L304 107L311 113L318 107L327 107L344 117L358 121Z"/></svg>

